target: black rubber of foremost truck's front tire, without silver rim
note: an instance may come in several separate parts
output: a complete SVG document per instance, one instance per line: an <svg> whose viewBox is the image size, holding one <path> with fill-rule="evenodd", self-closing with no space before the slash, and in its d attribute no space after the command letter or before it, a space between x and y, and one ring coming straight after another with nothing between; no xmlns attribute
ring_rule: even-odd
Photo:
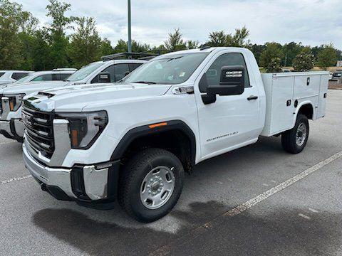
<svg viewBox="0 0 342 256"><path fill-rule="evenodd" d="M172 169L175 186L167 202L157 209L144 206L140 190L145 176L158 166ZM120 177L118 199L120 205L131 217L143 223L158 220L170 213L182 193L184 169L180 160L165 149L144 149L128 161Z"/></svg>

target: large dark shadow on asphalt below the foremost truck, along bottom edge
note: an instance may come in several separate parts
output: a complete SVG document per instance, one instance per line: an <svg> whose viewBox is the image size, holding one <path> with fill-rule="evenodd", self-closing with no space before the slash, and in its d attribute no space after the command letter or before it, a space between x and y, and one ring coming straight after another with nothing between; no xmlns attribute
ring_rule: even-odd
<svg viewBox="0 0 342 256"><path fill-rule="evenodd" d="M303 209L276 208L262 214L247 210L229 218L223 215L229 208L209 201L191 203L190 210L174 210L170 214L182 222L177 233L140 223L127 228L98 220L98 213L89 216L65 208L39 210L32 221L89 255L147 255L164 245L163 252L170 255L323 255L338 250L341 214L310 213L311 220L306 220L299 216ZM197 234L195 228L208 221L210 228Z"/></svg>

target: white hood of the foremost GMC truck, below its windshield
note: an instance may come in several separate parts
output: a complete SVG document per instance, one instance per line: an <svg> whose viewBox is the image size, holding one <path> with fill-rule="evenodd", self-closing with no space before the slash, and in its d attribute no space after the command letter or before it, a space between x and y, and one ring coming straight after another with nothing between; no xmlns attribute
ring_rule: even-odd
<svg viewBox="0 0 342 256"><path fill-rule="evenodd" d="M43 111L82 112L85 107L87 111L103 110L115 101L164 95L170 87L137 83L73 85L44 90L24 99L26 105Z"/></svg>

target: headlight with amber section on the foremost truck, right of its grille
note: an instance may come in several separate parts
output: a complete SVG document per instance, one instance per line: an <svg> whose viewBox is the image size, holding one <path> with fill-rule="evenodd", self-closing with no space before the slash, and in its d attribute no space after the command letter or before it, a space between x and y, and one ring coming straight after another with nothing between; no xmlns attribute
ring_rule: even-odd
<svg viewBox="0 0 342 256"><path fill-rule="evenodd" d="M73 149L89 149L108 124L108 115L105 111L56 113L56 118L69 121L69 134Z"/></svg>

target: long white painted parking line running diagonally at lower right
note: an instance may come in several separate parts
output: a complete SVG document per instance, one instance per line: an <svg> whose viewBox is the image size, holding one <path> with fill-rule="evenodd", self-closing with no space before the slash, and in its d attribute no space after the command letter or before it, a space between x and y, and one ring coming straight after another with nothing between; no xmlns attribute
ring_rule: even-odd
<svg viewBox="0 0 342 256"><path fill-rule="evenodd" d="M191 240L194 237L197 237L198 235L201 235L205 232L205 230L210 229L212 227L212 224L215 222L215 220L222 218L222 217L228 217L232 218L235 215L239 215L240 213L243 213L245 210L252 208L252 206L256 206L258 203L261 203L262 201L265 201L270 196L274 195L275 193L278 193L279 191L284 190L285 188L291 186L292 184L296 183L297 181L301 181L301 179L305 178L306 176L309 176L310 174L313 174L315 171L318 171L319 169L323 168L327 164L330 164L332 161L335 161L336 159L340 158L342 156L342 151L339 151L338 153L334 154L333 156L330 156L329 158L319 162L318 164L315 164L314 166L310 167L309 169L306 169L305 171L301 172L300 174L297 174L296 176L293 176L292 178L289 178L287 181L284 181L283 183L280 183L278 186L274 186L273 188L270 188L268 191L265 191L264 193L259 194L258 196L250 199L249 201L242 203L241 205L233 208L232 210L228 210L227 212L223 213L222 215L219 215L218 217L210 220L209 222L205 223L204 225L200 225L197 228L194 228L186 235L181 236L180 238L177 238L170 242L167 245L164 245L157 250L150 252L149 255L168 255L170 253L170 250L172 250L173 246L176 245L182 245L187 240ZM306 216L304 214L299 214L302 218L306 218L309 216ZM305 216L305 217L304 217ZM309 217L310 218L310 217Z"/></svg>

